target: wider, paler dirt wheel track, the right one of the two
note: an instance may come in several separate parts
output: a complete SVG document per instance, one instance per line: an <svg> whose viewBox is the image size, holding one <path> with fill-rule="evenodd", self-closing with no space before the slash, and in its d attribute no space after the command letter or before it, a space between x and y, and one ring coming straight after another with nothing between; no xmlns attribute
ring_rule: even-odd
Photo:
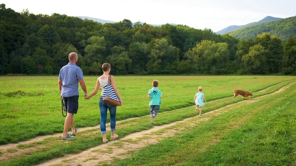
<svg viewBox="0 0 296 166"><path fill-rule="evenodd" d="M222 110L224 110L225 108L231 108L231 106L233 105L239 105L239 104L242 104L243 102L248 104L253 102L258 102L259 100L262 100L268 96L272 96L272 95L276 95L278 93L284 92L293 84L295 84L295 82L292 82L271 94L253 98L252 100L242 100L234 104L228 104L226 106L215 109L213 111L206 112L204 113L204 115L211 115L210 117L213 117L213 116L217 116L219 114L228 112L229 109L225 111L222 111ZM232 108L232 109L235 109L235 108ZM162 125L162 126L154 126L150 130L141 131L138 133L132 133L121 139L114 140L112 142L108 142L106 144L102 144L102 145L90 148L79 154L66 155L65 157L53 159L48 162L42 163L38 166L48 166L48 165L50 166L68 166L68 165L97 166L97 165L103 165L103 164L111 164L111 162L115 158L123 159L123 158L130 157L132 153L150 144L156 144L166 137L174 136L177 133L182 133L186 130L190 130L191 128L196 127L201 121L206 121L210 117L194 116L190 118L185 118L182 121L177 121L177 122ZM186 123L186 128L180 127L180 126L184 126L184 125L180 125L182 123ZM174 126L177 126L177 127L174 127ZM238 127L234 126L233 128L238 128ZM163 131L163 132L158 132L158 131ZM209 146L211 144L215 144L217 141L219 141L219 138L212 140L212 142L210 142L209 144L206 144L205 147L202 147L202 149L205 149L206 146Z"/></svg>

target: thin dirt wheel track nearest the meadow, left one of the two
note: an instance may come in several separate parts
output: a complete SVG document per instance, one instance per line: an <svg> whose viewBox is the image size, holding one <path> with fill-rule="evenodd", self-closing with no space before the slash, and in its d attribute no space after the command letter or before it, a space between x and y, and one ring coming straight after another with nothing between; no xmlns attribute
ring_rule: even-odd
<svg viewBox="0 0 296 166"><path fill-rule="evenodd" d="M291 81L291 80L288 80L288 81ZM283 81L283 82L288 82L288 81ZM283 82L277 83L275 85L281 84ZM270 89L271 87L273 87L275 85L267 87L267 88L265 88L263 90L260 90L258 92L265 92L266 90ZM229 98L229 97L226 97L226 98ZM221 99L225 99L225 98L221 98ZM217 100L221 100L221 99L217 99ZM213 102L213 101L216 101L216 100L212 100L212 101L208 101L208 102ZM241 101L238 101L238 102L241 102ZM188 106L188 107L192 107L192 106ZM184 109L184 108L186 108L186 107L178 108L178 109ZM173 110L171 110L171 111L173 111ZM164 111L164 112L168 112L168 111ZM142 117L148 117L148 116L149 115L145 115L145 116L141 116L141 117L128 118L128 119L124 119L124 120L121 120L121 121L116 121L116 123L130 121L130 120L134 120L134 119L138 119L138 118L142 118ZM106 127L110 127L110 123L108 123ZM93 127L78 128L78 131L83 132L83 131L93 130L93 129L100 129L100 125L93 126ZM71 133L71 131L69 133ZM11 149L11 148L16 148L20 144L30 144L32 142L42 141L42 140L44 140L46 138L49 138L49 137L57 137L57 136L61 136L61 135L62 135L62 133L55 133L55 134L50 134L50 135L42 135L42 136L37 136L37 137L32 138L32 139L27 140L27 141L21 141L21 142L18 142L18 143L9 143L9 144L5 144L5 145L0 145L0 151L1 150L6 150L6 149Z"/></svg>

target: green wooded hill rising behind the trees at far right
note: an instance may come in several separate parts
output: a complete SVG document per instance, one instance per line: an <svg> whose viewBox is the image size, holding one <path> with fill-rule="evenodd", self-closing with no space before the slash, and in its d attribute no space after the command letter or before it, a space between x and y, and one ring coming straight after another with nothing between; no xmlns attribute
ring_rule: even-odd
<svg viewBox="0 0 296 166"><path fill-rule="evenodd" d="M252 27L242 28L228 32L238 39L255 38L257 34L271 33L282 40L287 40L296 35L296 16L259 24Z"/></svg>

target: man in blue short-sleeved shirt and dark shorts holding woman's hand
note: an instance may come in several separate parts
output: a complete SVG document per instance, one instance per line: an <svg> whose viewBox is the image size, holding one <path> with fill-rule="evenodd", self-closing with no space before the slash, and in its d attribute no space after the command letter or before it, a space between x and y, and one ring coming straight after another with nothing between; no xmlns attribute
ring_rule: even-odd
<svg viewBox="0 0 296 166"><path fill-rule="evenodd" d="M85 82L83 80L82 69L76 66L78 62L78 56L72 52L69 54L69 63L63 66L59 74L59 88L61 93L61 99L64 100L65 109L67 111L67 117L65 119L64 133L62 139L73 139L74 136L68 134L69 127L71 126L72 135L77 133L77 129L74 128L74 114L78 110L78 82L84 92L84 97L87 96L87 90Z"/></svg>

